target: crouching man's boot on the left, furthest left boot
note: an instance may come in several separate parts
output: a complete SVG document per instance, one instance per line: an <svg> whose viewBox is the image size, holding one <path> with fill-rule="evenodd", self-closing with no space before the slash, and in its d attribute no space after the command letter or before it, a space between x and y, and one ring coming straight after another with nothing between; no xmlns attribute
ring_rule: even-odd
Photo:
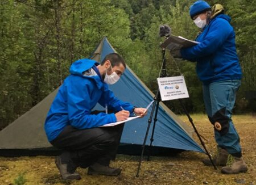
<svg viewBox="0 0 256 185"><path fill-rule="evenodd" d="M55 163L57 168L60 171L60 174L63 179L65 180L80 180L81 176L77 173L69 173L67 170L68 164L63 164L61 163L61 158L60 156L55 157Z"/></svg>

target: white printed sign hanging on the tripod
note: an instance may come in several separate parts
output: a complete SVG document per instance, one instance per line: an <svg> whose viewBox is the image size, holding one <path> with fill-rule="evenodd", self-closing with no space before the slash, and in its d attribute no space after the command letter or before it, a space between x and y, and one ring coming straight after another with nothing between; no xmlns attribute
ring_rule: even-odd
<svg viewBox="0 0 256 185"><path fill-rule="evenodd" d="M183 76L158 78L162 101L188 98L188 90Z"/></svg>

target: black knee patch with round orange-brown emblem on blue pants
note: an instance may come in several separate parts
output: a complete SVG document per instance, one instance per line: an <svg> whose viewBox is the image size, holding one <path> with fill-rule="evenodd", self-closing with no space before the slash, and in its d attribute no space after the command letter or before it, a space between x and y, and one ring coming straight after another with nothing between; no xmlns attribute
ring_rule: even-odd
<svg viewBox="0 0 256 185"><path fill-rule="evenodd" d="M210 123L214 125L214 130L224 136L229 131L229 117L225 115L226 107L218 110L212 117L209 117Z"/></svg>

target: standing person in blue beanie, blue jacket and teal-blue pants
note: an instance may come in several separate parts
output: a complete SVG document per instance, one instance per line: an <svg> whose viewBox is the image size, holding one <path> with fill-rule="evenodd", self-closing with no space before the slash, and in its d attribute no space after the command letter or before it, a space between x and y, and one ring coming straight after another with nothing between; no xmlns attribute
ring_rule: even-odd
<svg viewBox="0 0 256 185"><path fill-rule="evenodd" d="M205 109L214 126L217 142L218 153L213 159L214 163L225 166L221 169L224 174L245 173L247 166L242 158L240 137L232 121L242 71L230 17L224 14L221 5L214 5L211 11L205 1L193 3L189 14L196 26L201 28L196 38L200 44L171 51L171 54L197 62L196 72L203 82ZM209 159L203 162L211 165Z"/></svg>

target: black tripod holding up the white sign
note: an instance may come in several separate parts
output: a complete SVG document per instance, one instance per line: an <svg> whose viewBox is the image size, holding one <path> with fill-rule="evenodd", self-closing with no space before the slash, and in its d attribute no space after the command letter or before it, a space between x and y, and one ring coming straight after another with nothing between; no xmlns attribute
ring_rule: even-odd
<svg viewBox="0 0 256 185"><path fill-rule="evenodd" d="M162 48L162 59L163 59L163 61L162 61L162 68L161 68L161 71L160 71L160 77L163 78L163 77L167 77L168 76L168 74L166 73L166 49L164 49L164 48ZM143 154L144 154L144 149L145 149L145 146L146 146L147 136L148 136L148 132L149 132L149 129L150 129L150 126L151 126L151 123L152 123L152 117L153 117L153 114L154 114L154 111L155 111L154 124L153 124L151 138L150 138L150 146L149 146L150 151L151 151L151 148L152 148L152 142L154 141L155 124L156 124L156 121L157 121L158 109L159 109L160 101L161 101L161 97L160 97L160 91L159 91L159 87L158 87L158 91L156 92L156 96L154 98L154 103L153 103L153 106L152 106L152 111L150 113L150 118L148 119L146 135L144 137L144 142L143 142L143 145L142 145L141 158L139 160L139 165L138 165L138 170L137 170L137 175L136 175L137 177L139 176L139 171L141 170L141 162L142 162L142 158L143 158ZM195 127L195 124L193 123L193 120L192 120L191 116L189 115L188 111L186 110L186 108L185 108L184 104L182 103L181 99L179 99L179 102L180 102L181 107L183 108L185 114L187 115L189 122L192 124L192 127L195 130L195 132L197 134L197 137L199 137L201 145L204 147L205 153L208 155L208 157L210 159L210 162L212 163L214 169L217 170L217 167L213 163L212 157L210 156L207 148L205 147L204 142L201 139L199 132L197 132L197 129ZM148 157L147 157L148 161L149 161L149 158L150 158L150 153L148 154Z"/></svg>

